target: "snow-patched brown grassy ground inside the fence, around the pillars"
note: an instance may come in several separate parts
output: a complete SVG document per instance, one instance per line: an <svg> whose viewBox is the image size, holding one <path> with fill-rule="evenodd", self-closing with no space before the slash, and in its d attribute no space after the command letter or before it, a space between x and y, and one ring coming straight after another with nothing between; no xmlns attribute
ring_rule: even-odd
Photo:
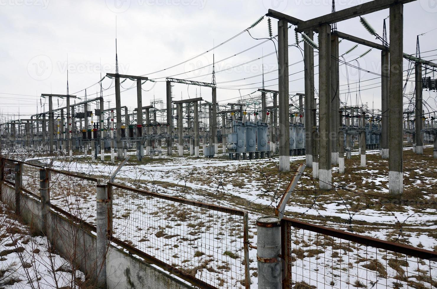
<svg viewBox="0 0 437 289"><path fill-rule="evenodd" d="M132 154L133 152L129 153ZM335 167L333 168L334 189L330 191L318 190L318 180L312 178L310 168L305 169L301 181L291 194L291 199L286 208L286 215L313 224L321 224L383 240L410 244L428 250L437 250L437 235L435 234L437 228L437 191L434 189L437 182L437 161L432 158L432 148L426 146L425 155L423 156L414 155L411 148L404 148L404 194L402 196L388 195L387 160L382 160L377 150L367 151L366 154L368 155L367 168L359 166L360 160L357 157L357 152L352 154L352 159L346 160L346 173L344 175L338 174L338 170ZM38 159L39 162L48 163L50 161L50 158L44 155L35 156L34 158ZM256 219L262 215L273 213L274 207L276 207L284 192L284 188L294 174L294 172L279 174L277 171L277 158L230 161L220 156L212 159L184 156L153 160L145 158L141 163L136 162L134 158L134 156L131 157L128 164L118 172L116 183L168 196L247 210L249 212L250 243L254 245L257 241ZM296 169L297 165L303 160L304 157L302 156L291 157L292 170ZM83 155L78 155L74 157L73 162L59 158L54 162L53 167L69 172L85 173L107 181L108 176L114 172L117 166L118 162L91 162L89 157L85 158ZM62 179L57 180L62 181ZM93 223L95 192L84 189L87 186L78 183L73 184L76 193L66 196L64 193L56 193L57 191L62 192L59 186L59 184L53 186L53 202L58 206L63 206L64 209L66 208L70 212L76 212L84 220ZM177 217L177 213L172 213L173 209L170 205L174 206L174 204L166 201L158 203L156 200L138 198L128 193L116 194L113 197L113 202L114 227L116 227L114 232L118 234L117 237L121 240L130 241L133 245L151 255L158 256L168 262L173 262L174 265L180 268L194 272L198 278L214 279L214 282L225 279L225 282L222 283L224 287L230 284L232 286L242 286L237 280L239 276L223 278L227 273L227 265L235 266L238 270L242 268L236 258L223 257L228 248L232 248L234 251L231 250L231 252L242 256L241 239L238 236L231 236L229 240L220 241L220 244L217 241L210 243L214 244L213 247L219 248L215 252L207 248L205 241L203 243L197 240L192 241L192 237L187 238L185 241L182 240L186 238L187 234L195 236L194 239L202 237L204 240L213 240L213 237L220 231L218 228L224 224L221 223L223 220L220 220L220 217L205 218L203 224L201 222L196 223L194 220L186 221L183 218L180 219L180 216ZM176 212L187 210L187 208L177 205L176 209ZM178 218L179 220L177 220ZM201 224L198 225L198 223ZM227 229L223 228L222 230ZM302 234L302 231L297 234ZM164 236L169 237L165 239ZM357 280L348 281L346 284L349 285L353 285L355 281L357 282L355 285L359 286L361 284L360 282L363 280L360 280L360 278L364 274L363 268L366 268L365 271L368 272L367 267L376 266L374 271L379 272L379 263L387 267L389 258L383 256L384 254L379 254L381 256L378 257L378 252L375 252L372 257L379 263L371 265L366 265L362 263L363 260L358 259L354 259L354 261L345 260L346 263L344 263L341 257L335 261L334 256L337 254L342 255L341 251L335 251L335 244L331 244L330 247L325 246L323 248L324 252L321 253L317 251L320 250L318 244L316 244L318 248L314 248L314 244L305 240L305 238L302 236L293 239L293 244L297 246L295 253L293 253L293 256L297 259L297 264L293 270L298 268L302 270L302 272L299 271L302 278L298 281L305 282L305 284L321 286L311 278L305 279L305 276L311 276L310 272L314 274L313 269L315 272L319 272L317 275L323 275L319 282L330 284L332 281L335 288L342 288L342 283L337 282L333 276L341 276L339 279L344 280L346 275L342 275L345 274L343 272L349 272L348 270L352 270L352 267L354 267L350 267L351 263L355 265L356 262L358 264L355 265L357 269L352 274L357 276ZM338 240L336 241L338 242ZM326 243L326 241L323 242ZM332 240L330 242L332 243ZM175 248L174 245L178 247ZM195 250L196 247L203 248L203 251L200 251L205 254L197 253L198 256L196 257L194 255L197 251ZM164 254L162 248L171 249ZM363 254L358 248L352 250L348 251L348 258ZM315 252L319 253L315 254ZM332 256L328 255L328 252L331 252ZM252 286L256 288L256 250L251 249L249 255L251 259ZM187 258L181 258L181 256ZM211 260L208 260L208 257ZM323 262L319 260L320 258ZM332 260L329 261L328 259ZM185 260L190 261L184 262ZM224 261L225 264L221 264L220 261ZM387 275L400 272L400 265L397 261L396 263L393 262L392 265L387 267L392 270L386 272ZM422 270L422 268L419 268L420 264L414 266ZM343 267L349 269L345 270ZM408 268L401 269L402 272L408 272ZM238 274L241 275L242 272L238 270ZM336 270L339 272L334 272ZM436 272L433 270L430 272L428 270L428 273L436 276ZM320 272L323 272L323 274ZM297 272L295 273L295 275L299 275ZM373 277L378 279L377 273L372 272L372 274L374 274ZM391 276L391 278L394 277ZM329 278L333 280L328 282ZM422 276L412 278L420 279ZM387 280L385 278L383 283L388 288L395 286L393 280L391 280L392 283L386 282ZM378 284L380 283L381 280ZM414 287L414 284L412 286Z"/></svg>

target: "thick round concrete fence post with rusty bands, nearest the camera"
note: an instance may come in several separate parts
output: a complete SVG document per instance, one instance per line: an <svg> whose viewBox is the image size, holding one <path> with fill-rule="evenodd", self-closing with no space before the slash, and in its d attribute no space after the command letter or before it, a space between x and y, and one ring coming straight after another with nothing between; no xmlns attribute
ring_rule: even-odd
<svg viewBox="0 0 437 289"><path fill-rule="evenodd" d="M258 288L282 288L281 219L265 216L257 219Z"/></svg>

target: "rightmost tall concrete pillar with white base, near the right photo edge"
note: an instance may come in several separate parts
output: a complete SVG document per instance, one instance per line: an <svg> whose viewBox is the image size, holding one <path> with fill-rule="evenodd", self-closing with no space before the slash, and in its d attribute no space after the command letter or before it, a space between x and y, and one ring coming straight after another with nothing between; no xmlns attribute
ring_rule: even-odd
<svg viewBox="0 0 437 289"><path fill-rule="evenodd" d="M416 107L414 109L415 122L414 128L416 130L416 154L423 155L423 101L422 101L422 64L416 62L414 65L414 73L416 79Z"/></svg>

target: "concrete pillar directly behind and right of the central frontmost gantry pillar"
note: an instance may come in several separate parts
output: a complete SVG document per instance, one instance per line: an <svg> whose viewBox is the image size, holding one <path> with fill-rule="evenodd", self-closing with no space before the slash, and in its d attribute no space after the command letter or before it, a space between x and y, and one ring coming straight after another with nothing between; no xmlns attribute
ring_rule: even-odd
<svg viewBox="0 0 437 289"><path fill-rule="evenodd" d="M331 164L338 165L338 112L340 111L338 35L331 35Z"/></svg>

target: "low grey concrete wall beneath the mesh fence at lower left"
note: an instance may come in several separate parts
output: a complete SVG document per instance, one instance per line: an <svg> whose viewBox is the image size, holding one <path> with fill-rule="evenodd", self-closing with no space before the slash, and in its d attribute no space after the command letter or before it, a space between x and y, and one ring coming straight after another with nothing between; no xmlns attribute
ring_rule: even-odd
<svg viewBox="0 0 437 289"><path fill-rule="evenodd" d="M15 208L15 189L7 184L1 185L1 201ZM21 217L33 231L42 232L42 204L31 196L21 194ZM82 272L91 280L97 280L99 266L96 265L96 236L94 232L73 224L66 217L50 210L47 215L47 237L54 248L66 260L76 262ZM185 282L168 275L154 265L135 258L114 246L108 248L106 259L107 287L113 288L193 288Z"/></svg>

